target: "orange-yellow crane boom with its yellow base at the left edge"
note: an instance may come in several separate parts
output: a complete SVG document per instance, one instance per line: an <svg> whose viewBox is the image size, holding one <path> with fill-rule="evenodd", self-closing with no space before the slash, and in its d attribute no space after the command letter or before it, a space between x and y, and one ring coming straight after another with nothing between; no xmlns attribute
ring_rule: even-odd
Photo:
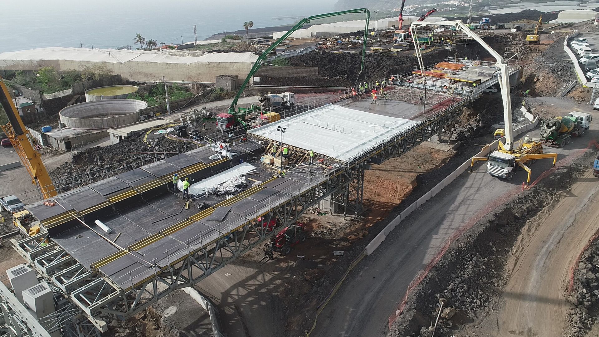
<svg viewBox="0 0 599 337"><path fill-rule="evenodd" d="M31 182L37 186L44 199L54 197L56 189L50 179L50 175L41 160L40 152L37 152L27 138L28 131L23 124L23 120L19 116L19 111L10 98L10 92L7 86L0 77L0 104L8 117L6 125L0 125L2 131L6 134L10 143L13 145L14 151L17 152L23 166L31 176ZM22 210L13 214L14 225L19 230L33 236L40 231L40 226L31 224L29 221L32 218L28 210Z"/></svg>

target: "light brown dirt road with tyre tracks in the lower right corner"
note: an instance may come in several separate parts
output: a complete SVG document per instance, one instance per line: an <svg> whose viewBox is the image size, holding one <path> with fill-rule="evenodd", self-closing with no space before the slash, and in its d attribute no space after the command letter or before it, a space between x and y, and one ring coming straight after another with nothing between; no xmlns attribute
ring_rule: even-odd
<svg viewBox="0 0 599 337"><path fill-rule="evenodd" d="M591 170L559 203L528 221L508 261L503 308L479 324L492 336L559 336L569 305L570 267L599 229L599 185ZM477 330L479 332L480 330Z"/></svg>

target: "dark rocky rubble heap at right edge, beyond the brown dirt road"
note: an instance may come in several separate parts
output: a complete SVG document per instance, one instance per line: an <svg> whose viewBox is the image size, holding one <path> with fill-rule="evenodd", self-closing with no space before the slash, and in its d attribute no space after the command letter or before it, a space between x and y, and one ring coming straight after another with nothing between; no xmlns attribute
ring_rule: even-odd
<svg viewBox="0 0 599 337"><path fill-rule="evenodd" d="M599 242L595 241L580 258L574 270L574 288L566 296L573 306L568 312L572 336L585 335L595 323L599 299Z"/></svg>

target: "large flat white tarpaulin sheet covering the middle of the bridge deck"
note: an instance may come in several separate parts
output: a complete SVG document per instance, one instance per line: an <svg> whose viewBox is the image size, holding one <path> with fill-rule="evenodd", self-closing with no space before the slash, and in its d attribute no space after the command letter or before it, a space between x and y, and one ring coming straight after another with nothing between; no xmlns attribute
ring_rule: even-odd
<svg viewBox="0 0 599 337"><path fill-rule="evenodd" d="M283 144L347 161L416 122L329 104L248 131Z"/></svg>

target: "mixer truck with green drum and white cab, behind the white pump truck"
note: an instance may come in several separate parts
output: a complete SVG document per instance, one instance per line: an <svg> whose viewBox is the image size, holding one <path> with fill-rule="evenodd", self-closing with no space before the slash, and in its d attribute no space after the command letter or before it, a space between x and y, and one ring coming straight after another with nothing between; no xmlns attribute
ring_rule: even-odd
<svg viewBox="0 0 599 337"><path fill-rule="evenodd" d="M571 137L582 137L585 127L574 116L559 116L547 119L541 126L541 142L563 148L570 143Z"/></svg>

